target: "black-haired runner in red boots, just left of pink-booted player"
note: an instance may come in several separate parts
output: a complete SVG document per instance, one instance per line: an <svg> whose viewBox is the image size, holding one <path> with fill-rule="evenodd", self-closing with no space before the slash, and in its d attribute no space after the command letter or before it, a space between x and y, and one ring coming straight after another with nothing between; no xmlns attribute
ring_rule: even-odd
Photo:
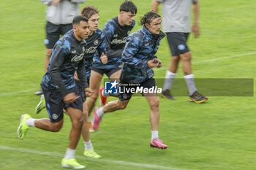
<svg viewBox="0 0 256 170"><path fill-rule="evenodd" d="M94 90L94 93L86 101L89 115L99 94L102 105L106 104L107 98L102 89L103 87L99 90L103 74L106 74L110 80L118 82L121 74L121 53L123 53L129 32L135 26L137 7L132 1L124 1L120 6L119 12L119 15L108 20L102 29L106 41L108 63L104 64L99 60L99 57L94 57L90 77L90 88Z"/></svg>

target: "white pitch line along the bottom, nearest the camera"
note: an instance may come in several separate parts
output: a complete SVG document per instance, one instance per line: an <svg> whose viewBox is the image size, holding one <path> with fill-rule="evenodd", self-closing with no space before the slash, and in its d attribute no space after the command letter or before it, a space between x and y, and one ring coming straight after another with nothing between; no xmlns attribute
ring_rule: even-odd
<svg viewBox="0 0 256 170"><path fill-rule="evenodd" d="M49 155L49 156L57 156L57 157L64 157L64 154L61 154L59 152L41 152L38 150L30 150L26 148L17 148L17 147L7 147L7 146L2 146L0 145L0 150L14 150L18 152L27 152L27 153L32 153L32 154L37 154L37 155ZM133 163L133 162L126 162L126 161L113 161L113 160L108 160L108 159L92 159L92 158L86 158L85 156L79 156L76 155L76 158L87 160L87 161L94 161L94 162L99 162L99 163L110 163L110 164L118 164L122 166L137 166L137 167L142 167L142 168L148 168L148 169L166 169L166 170L189 170L189 169L178 169L178 168L173 168L173 167L168 167L168 166L158 166L158 165L152 165L152 164L146 164L146 163Z"/></svg>

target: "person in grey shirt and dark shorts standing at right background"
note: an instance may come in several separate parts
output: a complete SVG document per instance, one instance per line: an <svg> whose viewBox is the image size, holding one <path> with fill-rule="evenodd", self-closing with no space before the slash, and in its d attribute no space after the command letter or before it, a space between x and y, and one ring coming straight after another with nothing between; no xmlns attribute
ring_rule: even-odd
<svg viewBox="0 0 256 170"><path fill-rule="evenodd" d="M190 33L190 7L194 4L195 23L192 32L195 38L200 35L199 29L199 2L197 0L152 0L152 10L157 12L158 5L162 3L163 31L167 34L172 58L165 75L165 84L162 96L175 100L170 93L174 78L178 69L178 63L182 61L184 79L189 89L189 101L203 103L208 98L197 92L195 87L194 74L192 74L191 58L192 53L187 45Z"/></svg>

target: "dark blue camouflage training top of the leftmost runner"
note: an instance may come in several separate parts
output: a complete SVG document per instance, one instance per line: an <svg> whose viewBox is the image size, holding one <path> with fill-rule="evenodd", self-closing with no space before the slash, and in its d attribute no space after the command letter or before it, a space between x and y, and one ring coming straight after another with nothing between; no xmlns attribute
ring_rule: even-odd
<svg viewBox="0 0 256 170"><path fill-rule="evenodd" d="M86 41L78 41L74 31L68 31L53 47L48 71L42 78L41 87L45 90L59 91L64 97L75 87L75 71L82 87L88 87L83 58L85 51Z"/></svg>

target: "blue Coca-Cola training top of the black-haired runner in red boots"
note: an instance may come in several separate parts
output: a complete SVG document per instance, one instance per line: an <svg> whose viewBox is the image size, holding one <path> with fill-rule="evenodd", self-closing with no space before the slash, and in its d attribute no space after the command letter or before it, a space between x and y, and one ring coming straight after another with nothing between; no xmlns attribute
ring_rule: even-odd
<svg viewBox="0 0 256 170"><path fill-rule="evenodd" d="M130 31L135 26L135 21L131 26L120 26L118 17L108 20L102 29L106 40L106 50L108 56L108 63L103 64L99 60L101 54L94 55L93 66L99 69L114 69L121 66L121 54L124 50L124 45L129 36Z"/></svg>

